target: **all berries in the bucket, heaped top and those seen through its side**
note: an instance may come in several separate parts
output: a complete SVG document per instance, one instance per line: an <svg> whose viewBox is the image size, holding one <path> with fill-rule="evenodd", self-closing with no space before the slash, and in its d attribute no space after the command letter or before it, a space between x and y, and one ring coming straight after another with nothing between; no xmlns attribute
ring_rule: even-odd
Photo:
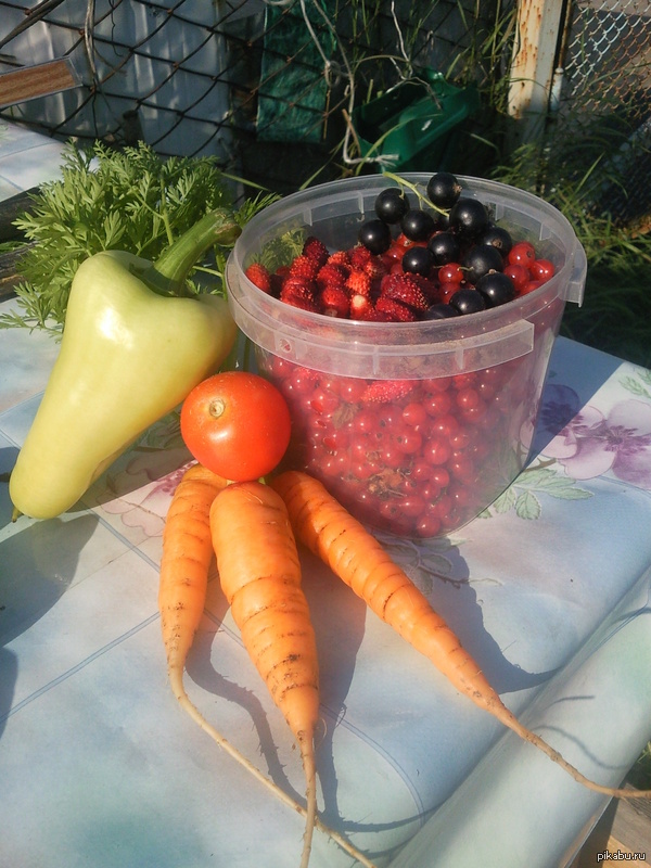
<svg viewBox="0 0 651 868"><path fill-rule="evenodd" d="M405 186L418 203L401 188L384 189L350 247L330 251L311 235L291 263L273 272L252 265L248 279L304 310L418 326L508 304L553 275L454 176L432 176L426 197ZM522 434L536 420L562 308L550 288L527 317L533 352L451 376L344 376L257 347L260 372L292 416L283 467L320 478L375 528L412 538L457 529L522 469Z"/></svg>

